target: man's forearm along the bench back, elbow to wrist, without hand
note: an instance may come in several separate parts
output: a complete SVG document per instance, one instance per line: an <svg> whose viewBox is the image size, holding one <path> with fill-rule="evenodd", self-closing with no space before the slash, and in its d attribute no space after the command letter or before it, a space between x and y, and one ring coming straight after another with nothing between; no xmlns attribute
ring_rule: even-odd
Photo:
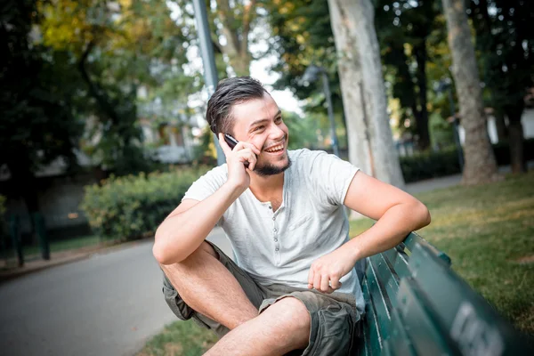
<svg viewBox="0 0 534 356"><path fill-rule="evenodd" d="M397 246L411 231L430 223L430 214L423 204L399 204L389 208L367 231L344 244L343 249L356 262Z"/></svg>

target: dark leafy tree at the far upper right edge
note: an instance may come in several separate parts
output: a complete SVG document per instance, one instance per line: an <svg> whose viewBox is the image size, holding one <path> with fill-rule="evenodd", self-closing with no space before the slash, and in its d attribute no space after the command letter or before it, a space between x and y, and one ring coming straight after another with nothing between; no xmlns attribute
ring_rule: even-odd
<svg viewBox="0 0 534 356"><path fill-rule="evenodd" d="M534 4L523 0L473 0L469 12L499 141L508 139L510 143L512 171L524 172L527 166L521 118L524 97L534 84Z"/></svg>

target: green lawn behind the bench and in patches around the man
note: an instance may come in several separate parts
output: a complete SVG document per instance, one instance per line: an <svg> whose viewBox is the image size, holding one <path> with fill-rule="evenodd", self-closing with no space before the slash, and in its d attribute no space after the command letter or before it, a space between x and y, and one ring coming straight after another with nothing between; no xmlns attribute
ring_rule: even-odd
<svg viewBox="0 0 534 356"><path fill-rule="evenodd" d="M417 194L433 221L419 233L452 259L457 273L517 328L534 335L534 172L505 182ZM352 236L373 222L351 222ZM170 311L169 311L170 312ZM138 356L200 355L216 336L177 321Z"/></svg>

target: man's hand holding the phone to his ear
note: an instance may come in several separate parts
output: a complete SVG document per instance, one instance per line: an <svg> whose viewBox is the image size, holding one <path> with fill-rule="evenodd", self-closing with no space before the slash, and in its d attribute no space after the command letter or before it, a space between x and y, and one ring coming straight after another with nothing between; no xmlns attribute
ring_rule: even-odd
<svg viewBox="0 0 534 356"><path fill-rule="evenodd" d="M224 141L223 134L219 134L219 144L226 156L228 165L228 183L240 190L247 190L250 185L250 172L255 168L257 155L260 154L255 145L248 142L239 142L233 150ZM244 163L248 162L248 168Z"/></svg>

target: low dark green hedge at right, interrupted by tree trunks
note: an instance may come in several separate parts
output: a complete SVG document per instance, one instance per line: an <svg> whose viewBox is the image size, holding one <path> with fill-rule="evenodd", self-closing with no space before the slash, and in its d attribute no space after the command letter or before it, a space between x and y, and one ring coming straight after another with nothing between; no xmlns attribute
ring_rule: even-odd
<svg viewBox="0 0 534 356"><path fill-rule="evenodd" d="M493 152L498 166L510 165L510 147L507 142L494 144ZM534 139L524 141L523 152L526 160L534 159ZM417 153L414 156L401 157L400 160L402 175L407 183L462 172L456 149Z"/></svg>

